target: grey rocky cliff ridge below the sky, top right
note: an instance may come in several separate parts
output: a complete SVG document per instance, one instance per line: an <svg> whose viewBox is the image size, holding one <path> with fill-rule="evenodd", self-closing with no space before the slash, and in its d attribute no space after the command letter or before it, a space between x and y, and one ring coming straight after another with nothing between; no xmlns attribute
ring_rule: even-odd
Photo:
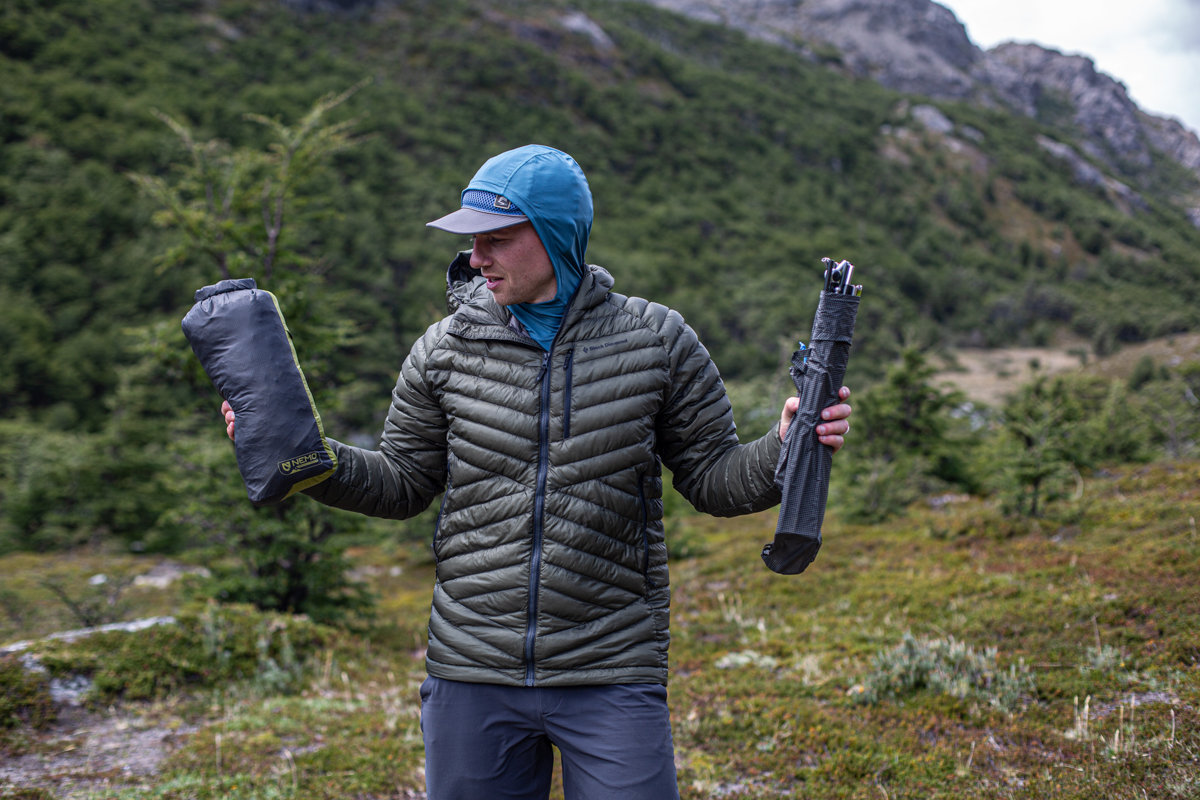
<svg viewBox="0 0 1200 800"><path fill-rule="evenodd" d="M1175 120L1144 113L1091 59L1037 44L982 50L954 13L931 0L644 0L750 36L820 50L899 91L1002 103L1073 127L1080 149L1127 178L1148 169L1152 150L1200 178L1200 139ZM1200 224L1200 209L1194 210Z"/></svg>

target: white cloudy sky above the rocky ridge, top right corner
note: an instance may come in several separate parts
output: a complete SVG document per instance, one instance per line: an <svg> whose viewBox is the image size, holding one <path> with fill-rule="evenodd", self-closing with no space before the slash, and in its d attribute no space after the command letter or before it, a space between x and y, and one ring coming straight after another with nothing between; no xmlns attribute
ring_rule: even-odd
<svg viewBox="0 0 1200 800"><path fill-rule="evenodd" d="M938 0L986 49L1036 42L1091 56L1145 110L1200 131L1200 0Z"/></svg>

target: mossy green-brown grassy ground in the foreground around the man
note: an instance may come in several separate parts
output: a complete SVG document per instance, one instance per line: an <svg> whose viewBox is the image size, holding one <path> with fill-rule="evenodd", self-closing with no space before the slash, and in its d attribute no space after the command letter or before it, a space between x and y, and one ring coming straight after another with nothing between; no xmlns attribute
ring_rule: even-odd
<svg viewBox="0 0 1200 800"><path fill-rule="evenodd" d="M796 577L760 561L773 515L674 517L673 541L689 551L677 548L672 565L670 703L683 796L1196 796L1198 482L1194 462L1114 470L1036 524L958 497L881 527L834 518L816 563ZM262 656L256 668L256 622L244 612L203 610L180 633L48 648L52 667L82 664L102 679L97 708L115 705L56 733L20 728L19 747L32 754L0 756L0 770L89 796L422 796L426 549L353 553L383 596L370 634L257 622L268 642L259 646L288 680ZM120 566L73 569L82 578ZM18 572L70 569L0 559L6 585ZM144 591L138 610L157 612L174 588ZM244 679L214 685L206 670L223 674L224 662L206 666L187 625L227 631L222 646ZM280 631L293 637L295 661L280 655ZM950 640L973 656L952 656ZM156 699L122 703L122 692ZM102 751L82 732L106 718ZM122 776L106 760L162 736L164 760L146 775Z"/></svg>

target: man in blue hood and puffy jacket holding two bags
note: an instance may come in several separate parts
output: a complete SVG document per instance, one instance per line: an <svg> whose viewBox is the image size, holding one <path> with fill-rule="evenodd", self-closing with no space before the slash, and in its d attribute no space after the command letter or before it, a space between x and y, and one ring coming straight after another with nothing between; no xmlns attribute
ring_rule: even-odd
<svg viewBox="0 0 1200 800"><path fill-rule="evenodd" d="M445 489L421 687L430 800L546 798L552 742L572 800L678 798L662 465L701 511L769 509L796 401L738 444L683 318L584 264L592 194L564 152L496 156L428 224L474 236L449 269L452 313L404 360L379 451L331 441L337 471L306 494L401 519ZM820 440L839 449L848 415L826 409Z"/></svg>

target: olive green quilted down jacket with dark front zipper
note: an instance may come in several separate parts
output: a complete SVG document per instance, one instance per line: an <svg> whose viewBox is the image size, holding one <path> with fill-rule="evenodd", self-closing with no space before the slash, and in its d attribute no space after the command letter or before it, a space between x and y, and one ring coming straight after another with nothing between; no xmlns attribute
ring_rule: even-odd
<svg viewBox="0 0 1200 800"><path fill-rule="evenodd" d="M683 318L592 266L550 353L478 272L404 360L379 451L331 441L306 494L402 519L445 488L426 667L512 686L666 684L662 465L700 511L779 503L776 428L739 445L716 367Z"/></svg>

